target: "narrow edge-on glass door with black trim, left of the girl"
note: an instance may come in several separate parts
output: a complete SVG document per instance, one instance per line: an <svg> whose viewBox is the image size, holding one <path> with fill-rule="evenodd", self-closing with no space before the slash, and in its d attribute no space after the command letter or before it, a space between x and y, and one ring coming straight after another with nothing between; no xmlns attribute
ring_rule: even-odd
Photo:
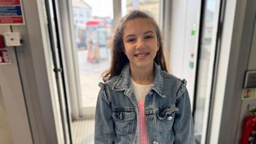
<svg viewBox="0 0 256 144"><path fill-rule="evenodd" d="M57 125L57 135L59 143L71 143L71 127L70 127L70 115L67 101L67 95L65 90L65 77L63 75L63 63L62 63L62 47L61 47L61 29L58 27L59 15L58 15L58 2L55 0L45 1L45 9L47 13L47 37L50 39L49 49L52 51L52 70L55 77L54 89L57 90L58 97L54 98L54 102L58 103L54 105L55 113L61 117L55 117L55 123ZM49 34L49 35L48 35Z"/></svg>

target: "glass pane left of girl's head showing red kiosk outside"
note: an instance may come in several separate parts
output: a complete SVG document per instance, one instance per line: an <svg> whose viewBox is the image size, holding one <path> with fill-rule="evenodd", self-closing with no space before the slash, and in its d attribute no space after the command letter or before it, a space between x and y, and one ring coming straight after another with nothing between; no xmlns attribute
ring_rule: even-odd
<svg viewBox="0 0 256 144"><path fill-rule="evenodd" d="M92 108L96 106L101 74L110 67L113 2L73 0L73 17L78 49L82 107Z"/></svg>

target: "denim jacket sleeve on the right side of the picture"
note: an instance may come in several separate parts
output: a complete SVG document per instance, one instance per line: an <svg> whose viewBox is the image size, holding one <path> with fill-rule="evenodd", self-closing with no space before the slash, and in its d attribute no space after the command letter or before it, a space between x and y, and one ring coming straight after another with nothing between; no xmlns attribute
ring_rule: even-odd
<svg viewBox="0 0 256 144"><path fill-rule="evenodd" d="M185 79L183 79L180 89L177 92L176 106L179 108L179 111L174 121L174 143L195 143L193 117L191 115L190 100Z"/></svg>

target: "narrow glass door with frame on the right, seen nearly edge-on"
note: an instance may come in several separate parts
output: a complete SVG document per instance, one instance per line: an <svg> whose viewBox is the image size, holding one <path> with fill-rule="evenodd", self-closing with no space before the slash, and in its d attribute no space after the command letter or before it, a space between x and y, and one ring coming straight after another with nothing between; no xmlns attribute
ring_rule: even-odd
<svg viewBox="0 0 256 144"><path fill-rule="evenodd" d="M209 122L210 99L216 54L220 0L203 3L201 38L198 48L198 67L194 103L194 125L196 143L205 143Z"/></svg>

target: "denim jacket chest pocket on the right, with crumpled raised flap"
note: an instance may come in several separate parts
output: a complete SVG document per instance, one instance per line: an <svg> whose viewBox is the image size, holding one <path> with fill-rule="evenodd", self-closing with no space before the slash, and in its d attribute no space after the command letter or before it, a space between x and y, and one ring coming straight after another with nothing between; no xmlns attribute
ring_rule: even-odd
<svg viewBox="0 0 256 144"><path fill-rule="evenodd" d="M165 108L159 110L159 112L157 113L160 134L170 134L171 132L173 135L172 125L175 118L175 111L179 111L179 108Z"/></svg>

